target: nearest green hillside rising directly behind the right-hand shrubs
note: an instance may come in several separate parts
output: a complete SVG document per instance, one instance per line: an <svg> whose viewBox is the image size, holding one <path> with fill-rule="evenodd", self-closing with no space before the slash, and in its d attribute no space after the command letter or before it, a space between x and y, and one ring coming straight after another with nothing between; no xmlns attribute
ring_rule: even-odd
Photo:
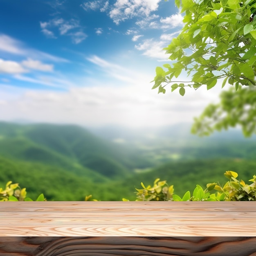
<svg viewBox="0 0 256 256"><path fill-rule="evenodd" d="M121 182L120 186L127 187L127 184L132 184L133 187L141 189L140 182L143 182L145 186L153 186L154 180L160 178L166 180L168 185L174 185L175 193L183 195L188 190L193 192L196 184L203 188L206 188L206 184L211 182L225 184L228 181L223 175L225 171L236 171L239 175L238 179L248 183L248 180L256 175L256 161L203 159L169 162L147 173L139 173L130 177L125 182Z"/></svg>

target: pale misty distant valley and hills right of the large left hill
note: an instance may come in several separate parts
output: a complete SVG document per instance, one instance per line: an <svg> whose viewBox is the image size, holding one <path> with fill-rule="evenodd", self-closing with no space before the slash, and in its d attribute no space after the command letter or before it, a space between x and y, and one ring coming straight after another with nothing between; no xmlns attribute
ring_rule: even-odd
<svg viewBox="0 0 256 256"><path fill-rule="evenodd" d="M136 148L141 157L151 159L157 165L196 159L255 159L255 135L245 138L241 130L230 129L209 137L198 137L192 135L190 129L191 124L181 123L147 130L106 127L92 129L92 132L116 144Z"/></svg>

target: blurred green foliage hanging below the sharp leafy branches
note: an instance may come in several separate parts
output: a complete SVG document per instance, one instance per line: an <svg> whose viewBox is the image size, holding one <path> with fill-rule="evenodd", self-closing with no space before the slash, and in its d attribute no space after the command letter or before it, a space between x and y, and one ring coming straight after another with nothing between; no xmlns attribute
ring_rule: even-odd
<svg viewBox="0 0 256 256"><path fill-rule="evenodd" d="M198 135L209 135L214 130L228 127L242 127L243 134L250 136L256 133L256 87L239 87L223 91L220 103L210 104L200 117L194 119L192 132Z"/></svg>

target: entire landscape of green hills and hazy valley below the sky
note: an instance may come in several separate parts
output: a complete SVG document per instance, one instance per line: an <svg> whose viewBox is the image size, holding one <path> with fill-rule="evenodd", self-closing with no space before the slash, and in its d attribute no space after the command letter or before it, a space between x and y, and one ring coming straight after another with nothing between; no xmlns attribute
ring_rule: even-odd
<svg viewBox="0 0 256 256"><path fill-rule="evenodd" d="M177 190L183 191L195 180L222 178L236 166L254 174L255 137L245 139L240 130L231 130L199 138L189 131L188 124L89 131L76 125L0 122L0 187L12 180L31 196L44 193L47 200L84 200L89 194L121 200L134 197L141 181L152 183L157 177L181 182Z"/></svg>

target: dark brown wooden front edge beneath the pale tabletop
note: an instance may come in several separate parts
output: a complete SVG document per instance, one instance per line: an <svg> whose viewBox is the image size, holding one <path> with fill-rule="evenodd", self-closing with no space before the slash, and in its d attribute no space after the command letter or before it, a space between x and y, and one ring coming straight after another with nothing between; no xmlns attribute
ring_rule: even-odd
<svg viewBox="0 0 256 256"><path fill-rule="evenodd" d="M255 256L243 237L2 237L0 256Z"/></svg>

